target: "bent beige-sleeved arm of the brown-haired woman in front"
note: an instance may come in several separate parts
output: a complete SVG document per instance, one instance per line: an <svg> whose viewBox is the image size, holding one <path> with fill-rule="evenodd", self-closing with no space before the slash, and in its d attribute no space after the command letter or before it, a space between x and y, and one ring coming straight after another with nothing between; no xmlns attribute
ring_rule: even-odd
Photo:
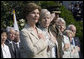
<svg viewBox="0 0 84 59"><path fill-rule="evenodd" d="M21 42L21 44L23 44L23 50L25 53L31 56L38 54L41 50L46 48L42 39L39 39L36 44L33 44L31 37L26 31L21 32Z"/></svg>

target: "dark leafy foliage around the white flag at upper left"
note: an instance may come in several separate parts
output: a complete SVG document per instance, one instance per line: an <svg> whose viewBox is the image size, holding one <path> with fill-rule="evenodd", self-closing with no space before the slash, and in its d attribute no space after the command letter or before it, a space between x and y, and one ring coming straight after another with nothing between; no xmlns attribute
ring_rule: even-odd
<svg viewBox="0 0 84 59"><path fill-rule="evenodd" d="M1 1L1 28L13 26L13 9L15 9L17 21L22 19L23 6L29 2L30 1Z"/></svg>

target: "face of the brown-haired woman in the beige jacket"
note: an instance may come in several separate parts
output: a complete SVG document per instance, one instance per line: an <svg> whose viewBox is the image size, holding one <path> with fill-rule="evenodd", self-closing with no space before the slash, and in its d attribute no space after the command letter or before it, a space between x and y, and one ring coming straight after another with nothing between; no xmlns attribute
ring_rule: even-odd
<svg viewBox="0 0 84 59"><path fill-rule="evenodd" d="M32 23L37 23L39 19L39 10L35 9L27 15L27 20Z"/></svg>

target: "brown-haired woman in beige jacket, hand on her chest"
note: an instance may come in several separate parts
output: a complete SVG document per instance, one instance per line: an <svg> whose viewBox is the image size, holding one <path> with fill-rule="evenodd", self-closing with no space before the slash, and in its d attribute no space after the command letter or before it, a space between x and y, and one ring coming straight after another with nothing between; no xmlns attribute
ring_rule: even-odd
<svg viewBox="0 0 84 59"><path fill-rule="evenodd" d="M24 8L26 25L21 31L21 56L22 58L47 58L47 44L40 29L36 27L39 19L40 7L29 3Z"/></svg>

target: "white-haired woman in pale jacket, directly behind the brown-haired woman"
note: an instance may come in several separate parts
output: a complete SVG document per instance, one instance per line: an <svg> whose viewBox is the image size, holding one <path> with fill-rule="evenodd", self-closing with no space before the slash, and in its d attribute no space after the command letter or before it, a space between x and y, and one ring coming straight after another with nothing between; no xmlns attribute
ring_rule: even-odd
<svg viewBox="0 0 84 59"><path fill-rule="evenodd" d="M47 54L49 58L56 58L55 47L56 39L52 36L48 27L51 22L51 14L47 9L42 9L40 13L39 28L43 31L46 42L48 43Z"/></svg>

